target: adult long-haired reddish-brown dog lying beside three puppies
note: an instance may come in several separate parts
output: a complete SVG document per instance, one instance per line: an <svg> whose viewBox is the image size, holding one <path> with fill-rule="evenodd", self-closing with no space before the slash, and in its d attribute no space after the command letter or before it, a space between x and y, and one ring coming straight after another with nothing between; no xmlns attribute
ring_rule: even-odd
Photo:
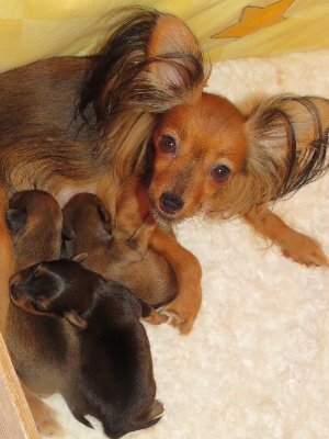
<svg viewBox="0 0 329 439"><path fill-rule="evenodd" d="M327 264L320 246L268 203L327 169L329 102L280 95L243 114L203 91L209 71L181 20L140 8L124 15L98 56L41 60L0 76L0 217L18 190L46 190L61 205L89 191L117 209L118 226L131 232L149 210L160 223L197 212L246 215L295 260ZM4 331L13 260L3 218L0 239ZM167 312L189 333L201 306L200 264L160 227L150 246L178 275Z"/></svg>

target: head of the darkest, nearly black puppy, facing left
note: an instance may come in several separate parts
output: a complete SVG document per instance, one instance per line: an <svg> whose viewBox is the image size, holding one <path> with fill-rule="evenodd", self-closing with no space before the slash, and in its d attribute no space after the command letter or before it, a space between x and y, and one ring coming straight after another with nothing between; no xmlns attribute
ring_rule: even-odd
<svg viewBox="0 0 329 439"><path fill-rule="evenodd" d="M60 316L84 328L83 316L92 308L99 277L76 260L41 262L14 273L9 281L11 301L32 314Z"/></svg>

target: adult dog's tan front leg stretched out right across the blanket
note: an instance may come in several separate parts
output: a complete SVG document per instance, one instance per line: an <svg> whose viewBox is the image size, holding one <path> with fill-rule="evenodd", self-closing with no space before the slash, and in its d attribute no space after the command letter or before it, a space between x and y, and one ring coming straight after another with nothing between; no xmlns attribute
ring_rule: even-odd
<svg viewBox="0 0 329 439"><path fill-rule="evenodd" d="M318 243L287 226L269 207L253 207L245 218L258 234L281 247L284 256L307 266L328 266L328 258Z"/></svg>

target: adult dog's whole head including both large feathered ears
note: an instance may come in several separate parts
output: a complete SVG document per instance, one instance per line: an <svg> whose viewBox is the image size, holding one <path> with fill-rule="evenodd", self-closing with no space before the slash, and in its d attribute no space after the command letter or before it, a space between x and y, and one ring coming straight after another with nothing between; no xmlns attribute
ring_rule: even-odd
<svg viewBox="0 0 329 439"><path fill-rule="evenodd" d="M242 115L203 93L208 75L181 20L138 8L101 50L82 90L80 112L101 128L104 160L118 182L152 168L149 194L164 221L197 211L242 214L327 167L328 101L274 97Z"/></svg>

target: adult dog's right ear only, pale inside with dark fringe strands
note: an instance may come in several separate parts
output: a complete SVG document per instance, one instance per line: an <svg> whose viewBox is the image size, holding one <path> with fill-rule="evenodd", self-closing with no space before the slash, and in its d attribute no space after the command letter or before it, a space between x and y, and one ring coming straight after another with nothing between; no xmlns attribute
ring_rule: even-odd
<svg viewBox="0 0 329 439"><path fill-rule="evenodd" d="M270 201L297 191L328 169L328 100L274 97L250 115L248 128L250 167L270 189Z"/></svg>

